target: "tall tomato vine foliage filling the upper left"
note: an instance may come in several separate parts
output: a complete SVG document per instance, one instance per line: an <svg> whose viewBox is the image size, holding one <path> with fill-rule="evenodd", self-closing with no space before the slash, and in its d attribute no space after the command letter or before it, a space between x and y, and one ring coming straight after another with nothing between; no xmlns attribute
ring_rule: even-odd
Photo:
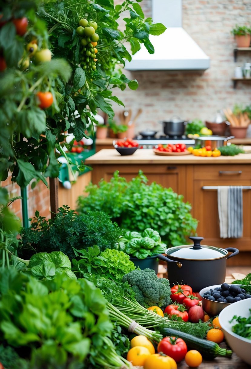
<svg viewBox="0 0 251 369"><path fill-rule="evenodd" d="M123 14L128 17L124 18L125 29L119 30L117 20ZM0 115L4 122L0 178L5 180L11 171L12 180L20 186L33 178L47 185L44 177L59 175L55 149L61 151L66 142L63 132L74 134L80 141L86 137L86 125L90 121L97 123L97 111L113 118L113 102L123 105L113 95L114 87L137 89L137 80L128 79L122 72L125 60L131 60L125 42L131 45L132 54L141 44L152 54L149 34L159 35L166 27L145 19L138 2L130 0L116 6L109 0L10 0L4 3L1 16L6 23L0 29L0 56L7 69L1 73L0 82ZM28 18L28 28L22 36L12 22L21 17ZM83 69L85 51L76 33L83 17L98 24L95 70ZM26 46L33 39L37 40L38 51L52 51L52 61L39 63L36 54L29 55ZM22 70L25 62L28 65ZM38 106L39 91L53 95L53 104L46 110Z"/></svg>

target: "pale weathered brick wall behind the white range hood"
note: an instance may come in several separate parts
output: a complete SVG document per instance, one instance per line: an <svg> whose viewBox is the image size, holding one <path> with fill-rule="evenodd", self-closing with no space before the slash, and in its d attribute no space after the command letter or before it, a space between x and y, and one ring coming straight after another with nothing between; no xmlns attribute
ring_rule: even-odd
<svg viewBox="0 0 251 369"><path fill-rule="evenodd" d="M145 15L151 16L151 1L139 4ZM219 109L233 108L235 103L250 104L251 82L238 82L234 90L231 77L235 66L251 62L251 52L239 53L234 63L236 44L230 34L236 24L248 24L250 19L248 0L183 0L183 27L210 57L211 66L205 72L125 71L129 78L138 80L139 88L118 90L116 94L134 114L138 107L143 108L136 132L146 128L162 132L158 121L176 114L184 119L210 121ZM114 109L119 111L115 105Z"/></svg>

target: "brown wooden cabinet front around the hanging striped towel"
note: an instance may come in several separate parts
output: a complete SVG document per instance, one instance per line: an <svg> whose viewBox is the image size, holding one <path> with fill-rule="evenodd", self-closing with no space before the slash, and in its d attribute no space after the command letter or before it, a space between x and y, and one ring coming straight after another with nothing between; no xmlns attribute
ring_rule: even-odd
<svg viewBox="0 0 251 369"><path fill-rule="evenodd" d="M243 237L220 238L217 189L204 190L203 186L251 186L249 166L212 165L207 166L206 170L205 166L203 170L199 166L194 168L192 215L199 221L197 234L205 238L204 244L222 248L236 247L242 252L242 255L229 259L228 265L250 265L251 190L243 190ZM244 255L247 258L243 258Z"/></svg>

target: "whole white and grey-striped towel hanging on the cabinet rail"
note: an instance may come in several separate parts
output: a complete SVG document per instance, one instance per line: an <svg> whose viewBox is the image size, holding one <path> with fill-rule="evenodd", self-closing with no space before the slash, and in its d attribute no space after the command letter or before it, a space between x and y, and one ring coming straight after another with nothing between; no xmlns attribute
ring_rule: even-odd
<svg viewBox="0 0 251 369"><path fill-rule="evenodd" d="M220 238L243 235L242 186L218 186Z"/></svg>

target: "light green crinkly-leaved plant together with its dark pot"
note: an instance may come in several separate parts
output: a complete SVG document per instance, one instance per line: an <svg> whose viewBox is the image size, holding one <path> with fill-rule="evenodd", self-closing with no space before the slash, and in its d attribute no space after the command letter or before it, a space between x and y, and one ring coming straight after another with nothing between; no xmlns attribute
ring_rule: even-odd
<svg viewBox="0 0 251 369"><path fill-rule="evenodd" d="M159 266L157 255L163 254L166 247L159 232L152 228L146 228L142 233L127 231L118 242L119 250L129 255L136 267L153 269L156 274Z"/></svg>

